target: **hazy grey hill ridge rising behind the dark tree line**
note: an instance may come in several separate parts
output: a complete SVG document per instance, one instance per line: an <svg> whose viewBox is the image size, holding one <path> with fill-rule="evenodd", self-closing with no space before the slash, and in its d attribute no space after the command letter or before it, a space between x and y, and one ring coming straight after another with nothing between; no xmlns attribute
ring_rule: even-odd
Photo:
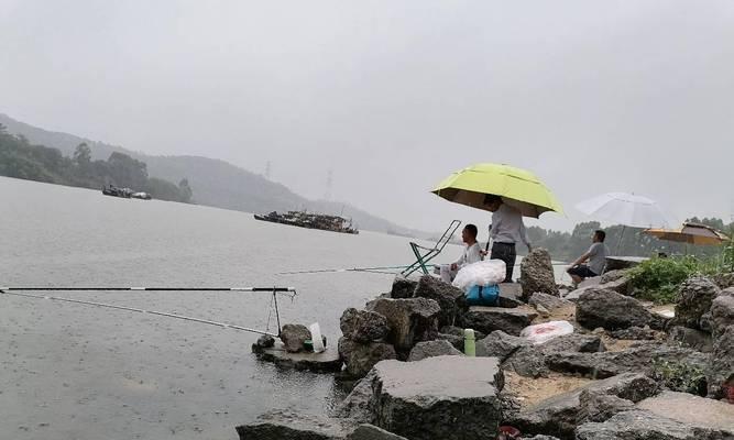
<svg viewBox="0 0 734 440"><path fill-rule="evenodd" d="M22 134L33 144L58 148L65 155L72 155L76 146L84 142L91 148L94 160L107 160L112 152L120 152L145 162L151 177L171 182L187 178L194 190L194 201L199 205L247 212L307 209L352 218L354 223L364 230L407 237L425 238L429 235L426 232L407 229L372 216L349 204L307 199L282 184L271 182L259 174L224 161L200 156L150 156L74 134L46 131L15 121L2 113L0 113L0 123L6 125L8 132L12 134Z"/></svg>

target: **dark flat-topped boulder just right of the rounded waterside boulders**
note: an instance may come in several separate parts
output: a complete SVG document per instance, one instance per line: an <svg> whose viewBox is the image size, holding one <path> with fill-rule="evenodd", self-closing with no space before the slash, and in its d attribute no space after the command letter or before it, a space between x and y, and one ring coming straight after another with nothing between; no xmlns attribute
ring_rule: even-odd
<svg viewBox="0 0 734 440"><path fill-rule="evenodd" d="M390 332L385 340L397 352L407 353L420 341L432 341L438 336L438 316L441 308L432 299L379 298L368 305L368 310L376 311L387 319Z"/></svg>

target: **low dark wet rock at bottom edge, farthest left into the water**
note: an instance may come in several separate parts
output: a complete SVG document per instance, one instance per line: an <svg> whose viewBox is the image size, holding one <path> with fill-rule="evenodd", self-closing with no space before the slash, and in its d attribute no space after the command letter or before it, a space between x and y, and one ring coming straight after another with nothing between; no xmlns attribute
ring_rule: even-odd
<svg viewBox="0 0 734 440"><path fill-rule="evenodd" d="M235 429L241 440L343 440L354 428L355 424L349 419L276 409Z"/></svg>

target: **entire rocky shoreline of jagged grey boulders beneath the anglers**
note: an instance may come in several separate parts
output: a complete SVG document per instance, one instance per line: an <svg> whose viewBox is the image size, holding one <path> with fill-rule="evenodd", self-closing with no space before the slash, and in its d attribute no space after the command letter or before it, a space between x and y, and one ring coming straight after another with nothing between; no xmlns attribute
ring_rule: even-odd
<svg viewBox="0 0 734 440"><path fill-rule="evenodd" d="M321 370L359 382L336 414L269 411L238 427L240 438L734 439L732 274L689 278L675 317L637 300L625 271L557 286L544 250L523 261L519 284L501 287L497 307L469 307L434 277L395 279L342 314L338 355ZM558 319L573 332L521 337ZM476 356L463 355L465 328ZM297 351L304 329L284 329L281 350ZM271 342L253 351L264 356Z"/></svg>

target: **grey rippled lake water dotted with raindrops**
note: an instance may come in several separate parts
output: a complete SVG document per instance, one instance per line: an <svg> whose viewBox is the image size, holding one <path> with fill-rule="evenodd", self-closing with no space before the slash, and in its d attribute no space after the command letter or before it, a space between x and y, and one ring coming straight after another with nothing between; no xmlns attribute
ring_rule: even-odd
<svg viewBox="0 0 734 440"><path fill-rule="evenodd" d="M252 215L0 177L0 286L294 286L283 322L318 321L330 343L347 307L392 276L275 275L412 261L408 239L260 222ZM489 219L489 215L487 215ZM441 229L437 224L436 229ZM445 260L459 255L447 248ZM265 328L252 293L57 293ZM270 329L274 330L271 319ZM237 439L269 408L328 411L329 375L250 352L253 333L165 317L0 295L1 439Z"/></svg>

